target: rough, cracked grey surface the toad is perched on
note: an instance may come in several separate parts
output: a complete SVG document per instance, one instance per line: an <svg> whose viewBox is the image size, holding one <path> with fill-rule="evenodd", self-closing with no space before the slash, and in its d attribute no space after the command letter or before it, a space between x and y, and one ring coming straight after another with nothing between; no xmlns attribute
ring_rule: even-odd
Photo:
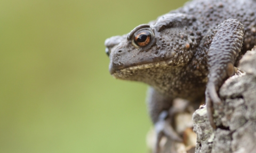
<svg viewBox="0 0 256 153"><path fill-rule="evenodd" d="M214 104L216 130L205 106L194 112L196 153L256 152L256 47L244 55L239 68L220 88L222 103Z"/></svg>

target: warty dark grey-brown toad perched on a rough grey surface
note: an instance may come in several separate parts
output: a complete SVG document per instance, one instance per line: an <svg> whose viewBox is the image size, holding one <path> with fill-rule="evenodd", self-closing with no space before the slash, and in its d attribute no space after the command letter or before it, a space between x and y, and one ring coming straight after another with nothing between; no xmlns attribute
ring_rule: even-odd
<svg viewBox="0 0 256 153"><path fill-rule="evenodd" d="M253 0L190 1L127 35L108 38L110 74L150 85L149 111L155 125L175 98L194 106L206 98L213 120L212 104L221 102L219 87L256 44L255 13ZM141 30L151 34L142 47L135 41ZM165 130L161 133L168 135Z"/></svg>

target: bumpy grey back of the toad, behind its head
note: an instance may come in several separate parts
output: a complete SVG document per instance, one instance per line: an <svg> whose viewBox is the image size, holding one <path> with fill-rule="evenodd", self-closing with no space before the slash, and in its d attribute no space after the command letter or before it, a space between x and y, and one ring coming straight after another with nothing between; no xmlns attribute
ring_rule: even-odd
<svg viewBox="0 0 256 153"><path fill-rule="evenodd" d="M202 23L197 27L202 34L206 34L227 19L237 19L244 25L245 31L245 45L242 51L252 49L255 45L255 41L252 41L256 36L256 1L254 0L194 0L170 13L193 14L197 21ZM194 33L196 34L196 30Z"/></svg>

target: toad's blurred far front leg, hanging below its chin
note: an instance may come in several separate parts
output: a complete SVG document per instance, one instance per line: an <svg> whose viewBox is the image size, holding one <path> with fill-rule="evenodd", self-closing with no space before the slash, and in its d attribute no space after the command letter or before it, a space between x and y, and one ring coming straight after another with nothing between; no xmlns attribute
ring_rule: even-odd
<svg viewBox="0 0 256 153"><path fill-rule="evenodd" d="M161 147L159 145L163 136L167 139L182 142L181 136L173 129L174 115L179 111L183 112L184 108L181 110L173 110L173 98L171 96L164 96L161 93L154 90L154 88L149 89L148 93L148 107L149 114L154 123L156 132L156 143L154 147L154 153L161 152Z"/></svg>

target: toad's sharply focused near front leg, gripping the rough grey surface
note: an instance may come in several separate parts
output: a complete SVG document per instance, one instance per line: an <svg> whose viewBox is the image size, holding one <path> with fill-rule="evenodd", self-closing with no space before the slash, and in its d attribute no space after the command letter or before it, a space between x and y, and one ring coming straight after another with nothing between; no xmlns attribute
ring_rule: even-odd
<svg viewBox="0 0 256 153"><path fill-rule="evenodd" d="M223 82L234 75L234 63L243 43L244 27L235 19L223 21L211 36L211 44L207 52L208 82L206 86L206 104L209 120L213 128L213 104L221 102L218 90Z"/></svg>

